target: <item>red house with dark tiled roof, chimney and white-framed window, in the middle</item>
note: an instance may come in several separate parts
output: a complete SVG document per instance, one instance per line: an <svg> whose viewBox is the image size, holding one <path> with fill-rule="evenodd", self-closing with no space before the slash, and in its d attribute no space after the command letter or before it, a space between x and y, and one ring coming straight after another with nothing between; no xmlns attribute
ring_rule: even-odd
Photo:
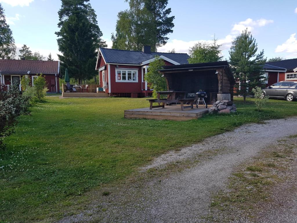
<svg viewBox="0 0 297 223"><path fill-rule="evenodd" d="M150 96L144 75L149 63L160 56L166 65L188 64L188 54L151 52L150 46L142 51L99 48L96 70L99 85L110 96L144 97Z"/></svg>

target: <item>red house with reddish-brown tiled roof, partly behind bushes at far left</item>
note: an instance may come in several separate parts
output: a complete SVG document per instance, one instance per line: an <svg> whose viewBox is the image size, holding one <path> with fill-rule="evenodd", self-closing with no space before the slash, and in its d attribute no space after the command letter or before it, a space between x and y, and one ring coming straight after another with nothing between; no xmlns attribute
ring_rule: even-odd
<svg viewBox="0 0 297 223"><path fill-rule="evenodd" d="M20 78L24 75L29 75L34 85L34 78L40 73L45 76L48 92L60 92L60 61L0 59L0 83L7 87L17 83L21 90Z"/></svg>

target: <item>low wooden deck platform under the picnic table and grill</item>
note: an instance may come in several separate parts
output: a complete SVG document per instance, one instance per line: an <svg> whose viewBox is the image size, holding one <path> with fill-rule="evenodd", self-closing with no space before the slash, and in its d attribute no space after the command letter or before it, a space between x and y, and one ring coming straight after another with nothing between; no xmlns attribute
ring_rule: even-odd
<svg viewBox="0 0 297 223"><path fill-rule="evenodd" d="M208 113L208 109L199 106L198 109L185 109L181 111L180 105L165 106L165 108L149 108L130 109L124 111L124 117L127 119L156 119L156 120L177 120L187 121L191 119L201 118L203 114Z"/></svg>

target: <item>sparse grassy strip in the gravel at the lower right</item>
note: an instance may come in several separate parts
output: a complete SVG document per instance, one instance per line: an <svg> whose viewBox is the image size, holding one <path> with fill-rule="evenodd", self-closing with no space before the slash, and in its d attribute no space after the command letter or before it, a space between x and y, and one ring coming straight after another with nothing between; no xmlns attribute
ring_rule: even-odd
<svg viewBox="0 0 297 223"><path fill-rule="evenodd" d="M210 204L215 222L251 221L259 212L257 208L270 201L271 190L287 179L286 170L296 160L297 138L293 144L292 139L269 145L260 156L233 173L228 189L214 195Z"/></svg>

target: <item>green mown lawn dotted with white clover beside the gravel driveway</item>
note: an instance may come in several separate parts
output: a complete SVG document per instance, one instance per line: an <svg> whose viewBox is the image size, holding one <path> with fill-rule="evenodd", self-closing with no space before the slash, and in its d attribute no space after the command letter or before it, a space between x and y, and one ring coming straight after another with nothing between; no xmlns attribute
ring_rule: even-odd
<svg viewBox="0 0 297 223"><path fill-rule="evenodd" d="M237 114L177 122L125 120L125 109L148 106L145 98L47 97L20 117L0 151L0 222L59 218L73 198L123 180L161 153L244 123L297 115L297 102L269 100L256 112L252 99L241 101Z"/></svg>

